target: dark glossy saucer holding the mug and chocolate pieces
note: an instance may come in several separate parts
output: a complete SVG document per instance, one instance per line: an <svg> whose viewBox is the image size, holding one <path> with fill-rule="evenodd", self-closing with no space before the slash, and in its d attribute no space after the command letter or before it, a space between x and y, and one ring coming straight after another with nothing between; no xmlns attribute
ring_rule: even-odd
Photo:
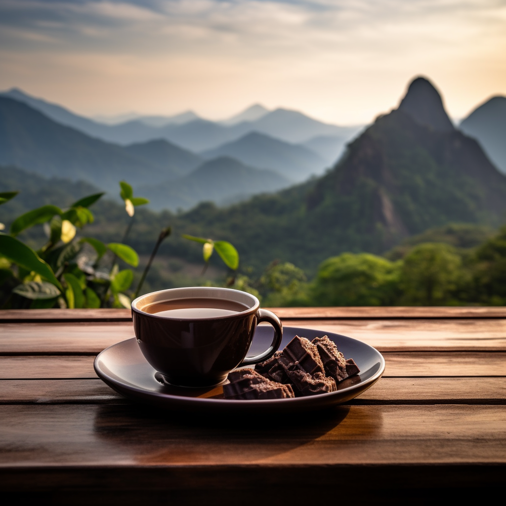
<svg viewBox="0 0 506 506"><path fill-rule="evenodd" d="M283 349L295 335L314 339L328 335L346 358L353 358L360 374L338 384L336 392L295 399L237 401L223 398L223 388L185 388L168 384L144 358L135 338L122 341L101 352L94 367L98 376L120 394L177 411L232 412L297 412L342 404L371 387L385 370L385 359L372 346L345 335L297 327L283 328ZM273 329L259 326L248 355L256 355L272 341Z"/></svg>

